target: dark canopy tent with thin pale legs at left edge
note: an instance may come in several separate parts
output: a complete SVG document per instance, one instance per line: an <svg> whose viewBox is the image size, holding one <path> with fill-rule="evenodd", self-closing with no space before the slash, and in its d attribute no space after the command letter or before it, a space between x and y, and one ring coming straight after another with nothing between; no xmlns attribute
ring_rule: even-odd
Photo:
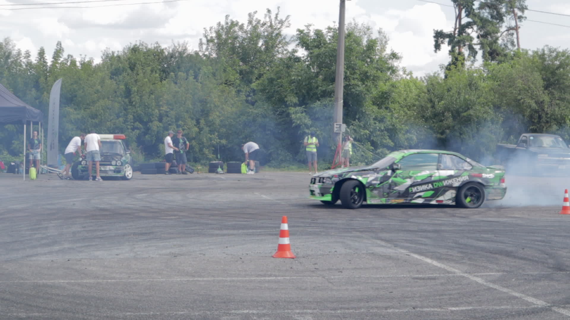
<svg viewBox="0 0 570 320"><path fill-rule="evenodd" d="M26 125L28 122L32 126L38 124L40 139L43 141L42 121L43 113L40 110L27 105L0 84L0 124L24 125L24 167L26 164ZM26 170L23 170L23 176L26 180Z"/></svg>

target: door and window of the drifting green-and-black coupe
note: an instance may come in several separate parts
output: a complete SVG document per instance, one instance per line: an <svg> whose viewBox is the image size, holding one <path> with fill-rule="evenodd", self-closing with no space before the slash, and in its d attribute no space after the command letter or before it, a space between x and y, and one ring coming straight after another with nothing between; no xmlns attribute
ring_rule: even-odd
<svg viewBox="0 0 570 320"><path fill-rule="evenodd" d="M389 192L386 195L387 203L417 202L425 201L422 195L420 199L413 199L420 191L427 190L431 181L431 176L438 173L437 164L439 154L437 153L413 153L401 158L396 162L401 169L393 173L389 178Z"/></svg>

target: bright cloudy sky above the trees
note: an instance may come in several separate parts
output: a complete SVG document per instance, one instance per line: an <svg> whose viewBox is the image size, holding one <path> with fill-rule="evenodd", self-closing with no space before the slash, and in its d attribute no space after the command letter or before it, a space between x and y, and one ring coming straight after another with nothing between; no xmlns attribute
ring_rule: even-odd
<svg viewBox="0 0 570 320"><path fill-rule="evenodd" d="M71 2L80 0L44 0L41 2ZM118 3L156 2L158 0L119 0L82 3L69 6L102 6ZM450 5L450 0L434 0ZM0 0L0 8L13 9L23 6L5 6L21 3L39 3L36 0ZM570 14L568 0L527 0L528 9ZM30 7L30 6L26 6ZM34 9L0 10L2 37L10 36L22 50L35 52L44 47L48 58L58 40L66 54L76 57L86 55L99 61L105 48L121 50L125 45L143 40L159 42L164 46L187 41L193 49L205 27L224 19L245 21L247 13L258 11L259 17L266 8L276 11L281 7L283 15L291 15L294 34L296 28L307 23L316 28L332 25L338 20L337 0L182 0L179 2L145 5L92 7L88 9ZM570 26L570 17L527 11L526 17L541 22ZM389 45L403 56L402 67L421 76L438 71L447 63L447 50L433 52L433 30L451 30L453 7L441 6L420 0L352 0L347 2L347 21L357 20L382 28L390 37ZM521 27L522 47L541 48L570 47L570 27L554 26L526 21Z"/></svg>

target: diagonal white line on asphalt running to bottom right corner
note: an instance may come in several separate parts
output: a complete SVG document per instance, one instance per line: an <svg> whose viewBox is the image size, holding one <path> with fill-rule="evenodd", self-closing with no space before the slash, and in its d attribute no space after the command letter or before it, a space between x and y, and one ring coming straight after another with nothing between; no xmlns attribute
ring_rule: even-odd
<svg viewBox="0 0 570 320"><path fill-rule="evenodd" d="M356 233L356 232L355 232L355 233ZM368 235L364 235L363 233L358 233L358 234L361 235L361 236L363 236L363 237L365 237L365 238L367 238L367 239L369 239L369 240L372 240L372 241L374 241L374 242L376 242L376 243L379 243L379 244L381 244L381 245L384 245L385 247L391 247L391 248L394 249L394 250L400 251L400 252L402 252L402 253L406 253L406 255L409 255L409 256L414 257L414 258L419 259L419 260L422 260L422 261L427 262L427 263L429 263L429 264L431 264L431 265L437 266L437 267L442 268L442 269L444 269L444 270L447 270L447 271L449 271L449 272L453 272L454 274L461 275L461 276L463 276L463 277L469 278L470 280L473 280L473 281L477 282L478 284L487 286L488 288L492 288L492 289L499 290L499 291L501 291L501 292L510 294L511 296L515 296L515 297L517 297L517 298L520 298L520 299L522 299L522 300L524 300L524 301L527 301L527 302L530 302L530 303L534 303L534 304L537 305L537 306L540 306L540 307L547 307L547 308L549 308L549 309L551 309L551 310L553 310L553 311L556 311L557 313L561 313L561 314L564 314L564 315L567 315L568 317L570 317L570 310L563 309L563 308L561 308L561 307L555 307L555 306L552 306L552 305L551 305L550 303L548 303L548 302L545 302L545 301L542 301L542 300L533 298L533 297L531 297L531 296L527 296L526 294L516 292L516 291L514 291L514 290L505 288L504 286L492 284L491 282L488 282L488 281L483 280L482 278L473 276L472 274L462 273L461 271L459 271L459 270L457 270L457 269L455 269L455 268L453 268L453 267L451 267L451 266L449 266L449 265L445 265L445 264L442 264L442 263L440 263L440 262L437 262L437 261L435 261L435 260L433 260L433 259L429 259L428 257L424 257L424 256L418 255L418 254L416 254L416 253L409 252L409 251L406 251L406 250L403 250L403 249L394 247L394 245L392 245L392 244L389 244L389 243L387 243L387 242L385 242L385 241L382 241L382 240L374 239L373 237L370 237L370 236L368 236Z"/></svg>

